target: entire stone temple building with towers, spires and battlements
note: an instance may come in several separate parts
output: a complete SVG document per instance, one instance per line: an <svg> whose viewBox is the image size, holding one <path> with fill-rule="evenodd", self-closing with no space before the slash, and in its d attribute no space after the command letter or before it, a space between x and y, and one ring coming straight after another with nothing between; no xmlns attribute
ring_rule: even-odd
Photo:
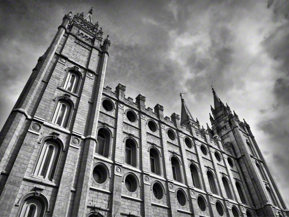
<svg viewBox="0 0 289 217"><path fill-rule="evenodd" d="M246 121L213 89L211 128L104 87L108 36L65 15L0 134L1 217L286 217ZM109 73L109 72L108 72Z"/></svg>

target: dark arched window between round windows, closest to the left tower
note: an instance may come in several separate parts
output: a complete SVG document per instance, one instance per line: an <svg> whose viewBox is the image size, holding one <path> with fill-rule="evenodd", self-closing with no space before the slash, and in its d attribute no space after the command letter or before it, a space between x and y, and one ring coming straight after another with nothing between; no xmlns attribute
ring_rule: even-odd
<svg viewBox="0 0 289 217"><path fill-rule="evenodd" d="M106 128L100 128L97 133L97 143L95 147L95 153L102 156L109 156L111 134Z"/></svg>

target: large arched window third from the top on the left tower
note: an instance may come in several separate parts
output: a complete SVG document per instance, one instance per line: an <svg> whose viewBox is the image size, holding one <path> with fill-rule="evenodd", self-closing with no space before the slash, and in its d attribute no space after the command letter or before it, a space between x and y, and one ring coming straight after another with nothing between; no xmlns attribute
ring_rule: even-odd
<svg viewBox="0 0 289 217"><path fill-rule="evenodd" d="M54 179L55 170L60 156L61 148L53 141L44 143L34 174L44 179Z"/></svg>

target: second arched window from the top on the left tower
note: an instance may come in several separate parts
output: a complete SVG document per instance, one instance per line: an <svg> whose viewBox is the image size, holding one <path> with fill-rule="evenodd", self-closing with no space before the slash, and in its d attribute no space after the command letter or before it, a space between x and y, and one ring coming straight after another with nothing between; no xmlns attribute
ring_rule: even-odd
<svg viewBox="0 0 289 217"><path fill-rule="evenodd" d="M52 123L57 124L60 127L67 127L70 113L70 104L64 100L59 100L52 118Z"/></svg>

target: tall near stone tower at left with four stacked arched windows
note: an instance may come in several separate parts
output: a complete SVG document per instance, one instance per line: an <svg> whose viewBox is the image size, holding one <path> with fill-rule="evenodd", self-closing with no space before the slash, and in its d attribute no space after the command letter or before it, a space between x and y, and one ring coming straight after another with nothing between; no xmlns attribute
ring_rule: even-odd
<svg viewBox="0 0 289 217"><path fill-rule="evenodd" d="M102 36L92 8L70 12L39 57L0 133L1 217L85 216L110 46Z"/></svg>

